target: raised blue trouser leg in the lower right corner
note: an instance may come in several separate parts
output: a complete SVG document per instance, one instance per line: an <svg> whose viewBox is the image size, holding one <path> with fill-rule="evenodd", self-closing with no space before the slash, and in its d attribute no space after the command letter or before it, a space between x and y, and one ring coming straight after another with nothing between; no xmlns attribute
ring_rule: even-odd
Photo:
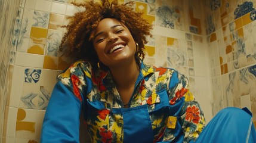
<svg viewBox="0 0 256 143"><path fill-rule="evenodd" d="M224 108L205 126L196 142L256 142L251 113L235 107Z"/></svg>

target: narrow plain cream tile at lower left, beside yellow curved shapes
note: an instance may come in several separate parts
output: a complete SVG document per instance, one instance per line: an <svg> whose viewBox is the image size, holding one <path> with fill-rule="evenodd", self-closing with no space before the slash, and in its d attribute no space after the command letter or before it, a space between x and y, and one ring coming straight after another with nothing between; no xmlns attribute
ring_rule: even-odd
<svg viewBox="0 0 256 143"><path fill-rule="evenodd" d="M16 137L16 119L18 108L9 107L6 136L10 138Z"/></svg>

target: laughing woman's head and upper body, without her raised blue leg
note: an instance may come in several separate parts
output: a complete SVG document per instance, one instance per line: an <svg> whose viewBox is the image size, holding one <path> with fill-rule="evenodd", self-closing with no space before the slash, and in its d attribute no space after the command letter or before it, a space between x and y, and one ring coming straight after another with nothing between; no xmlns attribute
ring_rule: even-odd
<svg viewBox="0 0 256 143"><path fill-rule="evenodd" d="M93 1L70 18L61 49L78 60L58 76L41 142L195 142L205 126L186 77L143 63L152 26L132 2Z"/></svg>

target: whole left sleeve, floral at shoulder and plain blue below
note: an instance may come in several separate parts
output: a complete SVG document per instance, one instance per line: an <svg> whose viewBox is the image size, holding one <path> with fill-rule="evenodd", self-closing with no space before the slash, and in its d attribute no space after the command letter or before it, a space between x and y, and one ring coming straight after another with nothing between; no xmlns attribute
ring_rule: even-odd
<svg viewBox="0 0 256 143"><path fill-rule="evenodd" d="M58 76L45 112L41 142L79 142L84 72L72 65Z"/></svg>

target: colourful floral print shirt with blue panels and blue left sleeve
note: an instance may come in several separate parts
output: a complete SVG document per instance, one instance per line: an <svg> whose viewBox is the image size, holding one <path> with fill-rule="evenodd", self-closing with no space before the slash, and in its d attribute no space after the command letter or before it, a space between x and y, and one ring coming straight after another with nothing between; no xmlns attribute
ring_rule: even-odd
<svg viewBox="0 0 256 143"><path fill-rule="evenodd" d="M91 65L81 60L59 74L41 142L79 142L81 111L91 142L193 142L205 126L187 78L143 61L129 108L124 108L109 71L92 73Z"/></svg>

